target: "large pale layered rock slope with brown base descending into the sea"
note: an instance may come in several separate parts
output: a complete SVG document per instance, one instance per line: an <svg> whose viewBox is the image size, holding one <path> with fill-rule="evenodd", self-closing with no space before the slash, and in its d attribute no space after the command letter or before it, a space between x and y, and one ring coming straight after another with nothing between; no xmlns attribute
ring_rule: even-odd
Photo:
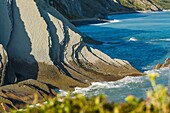
<svg viewBox="0 0 170 113"><path fill-rule="evenodd" d="M25 103L22 95L29 97L48 86L71 90L91 82L142 75L127 61L88 47L81 33L43 0L1 0L0 6L0 14L4 14L0 17L0 43L8 54L3 77L6 86L0 88L3 99ZM13 83L17 84L8 85Z"/></svg>

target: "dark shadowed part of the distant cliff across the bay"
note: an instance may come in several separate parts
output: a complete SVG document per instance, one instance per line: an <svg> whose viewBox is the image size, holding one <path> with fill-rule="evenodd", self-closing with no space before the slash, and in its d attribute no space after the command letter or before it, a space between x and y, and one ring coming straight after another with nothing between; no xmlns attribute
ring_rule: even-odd
<svg viewBox="0 0 170 113"><path fill-rule="evenodd" d="M69 19L104 18L110 12L131 11L112 0L52 0L51 5Z"/></svg>

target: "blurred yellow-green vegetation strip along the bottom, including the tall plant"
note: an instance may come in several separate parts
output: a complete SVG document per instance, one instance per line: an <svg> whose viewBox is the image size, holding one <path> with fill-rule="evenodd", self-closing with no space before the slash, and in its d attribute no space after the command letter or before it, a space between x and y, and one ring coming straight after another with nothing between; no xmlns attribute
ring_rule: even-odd
<svg viewBox="0 0 170 113"><path fill-rule="evenodd" d="M147 92L146 100L130 95L124 103L108 103L101 95L86 98L81 94L49 98L46 104L13 110L12 113L170 113L170 95L168 89L156 85L158 74L148 74L152 89Z"/></svg>

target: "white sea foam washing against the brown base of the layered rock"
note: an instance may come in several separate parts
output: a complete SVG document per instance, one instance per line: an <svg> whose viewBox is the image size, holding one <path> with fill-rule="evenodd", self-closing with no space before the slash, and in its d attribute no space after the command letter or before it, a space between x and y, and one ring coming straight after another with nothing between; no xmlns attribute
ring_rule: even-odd
<svg viewBox="0 0 170 113"><path fill-rule="evenodd" d="M163 68L159 70L149 70L149 71L145 71L144 73L148 74L148 73L153 73L153 72L159 73L160 76L162 76L160 79L166 79L169 76L168 82L170 84L170 69L169 68ZM166 76L166 77L164 78L163 76ZM121 92L123 93L124 91L130 92L130 91L142 88L140 90L144 91L143 93L145 94L145 91L147 91L148 88L150 87L151 86L149 85L149 81L147 77L145 76L140 76L140 77L127 76L121 80L113 81L113 82L94 82L87 88L76 87L73 93L81 93L86 96L90 96L90 95L94 96L94 95L99 95L101 93L105 93L107 90L108 91L109 90L119 90L119 91L121 90ZM140 96L145 96L145 95L140 95Z"/></svg>

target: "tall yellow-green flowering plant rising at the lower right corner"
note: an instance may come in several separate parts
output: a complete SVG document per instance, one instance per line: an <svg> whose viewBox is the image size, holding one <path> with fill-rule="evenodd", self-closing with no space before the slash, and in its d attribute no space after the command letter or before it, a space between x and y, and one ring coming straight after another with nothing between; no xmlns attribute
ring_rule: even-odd
<svg viewBox="0 0 170 113"><path fill-rule="evenodd" d="M170 95L168 94L168 88L163 85L156 85L155 79L159 77L158 74L148 74L148 78L151 81L153 90L147 92L146 110L149 112L153 109L153 112L170 113Z"/></svg>

